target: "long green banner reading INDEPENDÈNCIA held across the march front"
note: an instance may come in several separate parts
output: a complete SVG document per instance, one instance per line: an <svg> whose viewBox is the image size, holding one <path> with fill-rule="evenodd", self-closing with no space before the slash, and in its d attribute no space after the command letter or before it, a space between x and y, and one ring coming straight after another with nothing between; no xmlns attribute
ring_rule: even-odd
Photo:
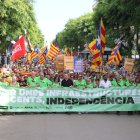
<svg viewBox="0 0 140 140"><path fill-rule="evenodd" d="M0 87L0 112L140 111L140 88Z"/></svg>

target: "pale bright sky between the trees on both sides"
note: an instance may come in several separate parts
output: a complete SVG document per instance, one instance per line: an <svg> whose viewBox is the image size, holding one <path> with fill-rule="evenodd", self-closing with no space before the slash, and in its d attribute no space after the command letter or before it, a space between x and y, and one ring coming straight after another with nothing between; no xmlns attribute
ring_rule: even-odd
<svg viewBox="0 0 140 140"><path fill-rule="evenodd" d="M49 44L69 19L92 11L95 0L35 0L37 23Z"/></svg>

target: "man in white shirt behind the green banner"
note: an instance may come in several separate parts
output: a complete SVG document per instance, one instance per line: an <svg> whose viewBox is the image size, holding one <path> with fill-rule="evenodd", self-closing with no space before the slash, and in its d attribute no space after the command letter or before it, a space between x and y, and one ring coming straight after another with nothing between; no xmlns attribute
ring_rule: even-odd
<svg viewBox="0 0 140 140"><path fill-rule="evenodd" d="M111 82L108 80L108 75L107 74L103 75L103 80L100 81L99 87L100 88L109 88L109 87L111 87Z"/></svg>

